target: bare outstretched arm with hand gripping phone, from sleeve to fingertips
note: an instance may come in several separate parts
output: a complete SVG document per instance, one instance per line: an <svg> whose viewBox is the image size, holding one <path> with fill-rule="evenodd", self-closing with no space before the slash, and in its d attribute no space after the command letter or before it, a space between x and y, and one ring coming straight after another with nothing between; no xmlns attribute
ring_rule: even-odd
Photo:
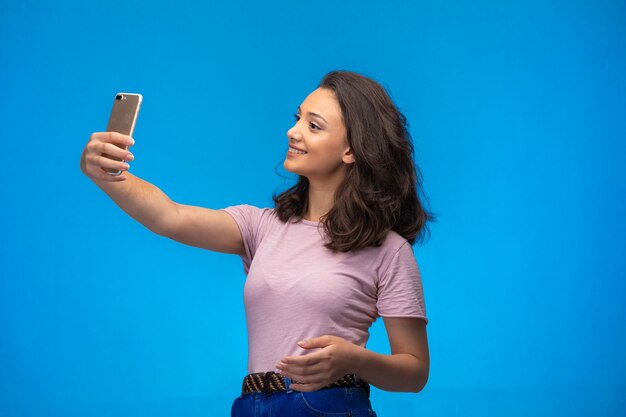
<svg viewBox="0 0 626 417"><path fill-rule="evenodd" d="M235 220L226 212L187 206L172 201L153 184L128 172L133 155L116 145L131 146L130 136L115 132L91 135L80 159L81 171L122 210L152 232L178 242L232 254L244 252ZM103 168L122 170L112 176Z"/></svg>

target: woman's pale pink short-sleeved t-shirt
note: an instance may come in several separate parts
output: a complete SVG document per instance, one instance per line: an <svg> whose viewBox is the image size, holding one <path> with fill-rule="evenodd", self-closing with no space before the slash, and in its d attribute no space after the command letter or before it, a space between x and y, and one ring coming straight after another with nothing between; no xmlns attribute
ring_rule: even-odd
<svg viewBox="0 0 626 417"><path fill-rule="evenodd" d="M247 204L222 210L237 222L245 246L249 373L317 351L297 342L325 334L365 347L378 316L428 323L412 247L396 232L382 246L333 253L320 223L283 223L274 209Z"/></svg>

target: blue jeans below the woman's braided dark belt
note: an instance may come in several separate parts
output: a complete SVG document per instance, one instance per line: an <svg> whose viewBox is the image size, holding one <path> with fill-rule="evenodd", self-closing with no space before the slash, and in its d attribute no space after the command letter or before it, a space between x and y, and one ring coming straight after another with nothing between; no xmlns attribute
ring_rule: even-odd
<svg viewBox="0 0 626 417"><path fill-rule="evenodd" d="M313 392L289 389L272 393L251 392L235 398L231 417L376 417L369 392L354 387L324 388Z"/></svg>

